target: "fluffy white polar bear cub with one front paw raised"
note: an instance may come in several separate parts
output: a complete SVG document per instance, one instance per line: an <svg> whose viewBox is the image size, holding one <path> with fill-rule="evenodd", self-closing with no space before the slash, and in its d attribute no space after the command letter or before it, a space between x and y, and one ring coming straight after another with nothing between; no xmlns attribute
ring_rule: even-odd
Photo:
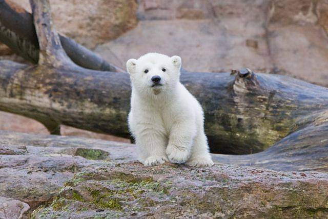
<svg viewBox="0 0 328 219"><path fill-rule="evenodd" d="M128 123L139 161L212 166L203 111L180 81L181 58L148 53L127 62L132 84Z"/></svg>

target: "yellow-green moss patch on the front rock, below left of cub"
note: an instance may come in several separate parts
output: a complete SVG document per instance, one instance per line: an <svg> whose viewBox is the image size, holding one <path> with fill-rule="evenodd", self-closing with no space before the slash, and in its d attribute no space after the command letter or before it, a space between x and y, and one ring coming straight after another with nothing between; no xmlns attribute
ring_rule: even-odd
<svg viewBox="0 0 328 219"><path fill-rule="evenodd" d="M79 182L87 182L89 179L95 178L106 179L106 182L111 185L109 189L100 184L79 184ZM98 178L97 178L98 179ZM114 180L112 180L114 179ZM166 186L172 185L172 182L165 183ZM74 201L83 202L80 204L79 211L86 211L93 206L97 209L110 209L117 212L124 210L122 202L135 200L139 203L139 207L152 207L158 204L152 198L148 198L146 193L154 193L155 196L161 198L169 194L166 186L161 185L159 182L153 180L152 177L136 177L132 174L122 172L111 172L107 174L97 174L94 172L80 172L74 178L66 183L64 192L61 198L55 200L50 206L52 211L64 211L70 206L69 203ZM83 194L83 196L81 195ZM86 195L86 196L85 196ZM91 205L90 205L91 204ZM39 214L38 214L39 215Z"/></svg>

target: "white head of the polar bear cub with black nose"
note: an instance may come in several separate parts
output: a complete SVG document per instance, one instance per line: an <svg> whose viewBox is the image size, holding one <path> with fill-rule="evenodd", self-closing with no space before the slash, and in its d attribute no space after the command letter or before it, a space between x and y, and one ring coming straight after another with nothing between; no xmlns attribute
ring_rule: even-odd
<svg viewBox="0 0 328 219"><path fill-rule="evenodd" d="M175 89L179 82L181 58L147 53L127 62L132 87L140 93L158 95Z"/></svg>

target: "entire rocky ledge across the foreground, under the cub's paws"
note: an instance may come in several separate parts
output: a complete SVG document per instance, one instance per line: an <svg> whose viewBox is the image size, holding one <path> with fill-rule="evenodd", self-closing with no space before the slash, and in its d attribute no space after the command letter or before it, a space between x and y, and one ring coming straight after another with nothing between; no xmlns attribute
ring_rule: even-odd
<svg viewBox="0 0 328 219"><path fill-rule="evenodd" d="M0 217L328 216L327 173L222 164L144 167L133 161L133 147L0 131Z"/></svg>

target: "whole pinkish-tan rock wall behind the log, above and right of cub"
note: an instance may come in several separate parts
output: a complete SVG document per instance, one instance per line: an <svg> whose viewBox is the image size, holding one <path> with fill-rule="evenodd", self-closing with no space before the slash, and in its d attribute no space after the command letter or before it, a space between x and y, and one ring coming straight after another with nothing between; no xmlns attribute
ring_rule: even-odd
<svg viewBox="0 0 328 219"><path fill-rule="evenodd" d="M95 51L122 68L156 51L191 71L248 67L328 86L327 14L324 0L141 0L137 27Z"/></svg>

